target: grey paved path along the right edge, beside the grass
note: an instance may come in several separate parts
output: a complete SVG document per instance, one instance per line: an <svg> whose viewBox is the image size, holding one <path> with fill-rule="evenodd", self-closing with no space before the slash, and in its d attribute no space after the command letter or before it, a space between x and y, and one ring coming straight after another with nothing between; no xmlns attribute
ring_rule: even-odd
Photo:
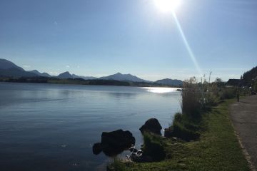
<svg viewBox="0 0 257 171"><path fill-rule="evenodd" d="M257 168L257 95L251 95L233 103L231 120L243 147L251 156L253 167Z"/></svg>

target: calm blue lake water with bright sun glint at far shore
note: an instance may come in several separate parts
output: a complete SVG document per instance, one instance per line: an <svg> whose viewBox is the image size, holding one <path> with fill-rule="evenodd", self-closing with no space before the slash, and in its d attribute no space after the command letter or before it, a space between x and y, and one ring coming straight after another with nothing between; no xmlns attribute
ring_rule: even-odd
<svg viewBox="0 0 257 171"><path fill-rule="evenodd" d="M106 170L92 153L103 131L129 130L139 147L141 125L167 128L180 99L176 88L0 83L0 170Z"/></svg>

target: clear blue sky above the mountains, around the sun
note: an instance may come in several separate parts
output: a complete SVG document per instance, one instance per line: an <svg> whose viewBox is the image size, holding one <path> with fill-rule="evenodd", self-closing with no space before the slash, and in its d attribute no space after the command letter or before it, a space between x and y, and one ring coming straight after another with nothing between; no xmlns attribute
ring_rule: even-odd
<svg viewBox="0 0 257 171"><path fill-rule="evenodd" d="M146 80L239 78L257 65L256 0L1 0L0 58L25 70Z"/></svg>

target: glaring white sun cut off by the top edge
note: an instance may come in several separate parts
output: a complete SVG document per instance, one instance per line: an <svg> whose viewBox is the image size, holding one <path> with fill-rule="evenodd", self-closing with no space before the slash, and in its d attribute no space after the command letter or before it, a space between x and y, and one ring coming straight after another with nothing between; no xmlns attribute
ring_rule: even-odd
<svg viewBox="0 0 257 171"><path fill-rule="evenodd" d="M174 12L181 4L181 0L154 0L157 8L163 12Z"/></svg>

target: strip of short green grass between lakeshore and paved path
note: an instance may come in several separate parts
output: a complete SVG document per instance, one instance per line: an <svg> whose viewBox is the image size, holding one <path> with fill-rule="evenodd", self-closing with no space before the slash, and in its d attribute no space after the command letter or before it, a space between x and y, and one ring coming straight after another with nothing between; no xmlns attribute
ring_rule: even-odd
<svg viewBox="0 0 257 171"><path fill-rule="evenodd" d="M226 100L203 115L205 130L193 142L163 139L166 159L161 162L130 163L122 170L250 170L229 119Z"/></svg>

